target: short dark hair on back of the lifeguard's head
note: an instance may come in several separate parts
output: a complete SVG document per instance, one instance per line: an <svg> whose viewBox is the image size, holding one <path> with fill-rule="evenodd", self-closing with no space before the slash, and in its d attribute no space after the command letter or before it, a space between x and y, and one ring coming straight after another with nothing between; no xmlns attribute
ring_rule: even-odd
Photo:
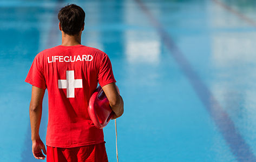
<svg viewBox="0 0 256 162"><path fill-rule="evenodd" d="M83 25L86 13L76 4L68 4L58 12L61 29L68 35L77 35Z"/></svg>

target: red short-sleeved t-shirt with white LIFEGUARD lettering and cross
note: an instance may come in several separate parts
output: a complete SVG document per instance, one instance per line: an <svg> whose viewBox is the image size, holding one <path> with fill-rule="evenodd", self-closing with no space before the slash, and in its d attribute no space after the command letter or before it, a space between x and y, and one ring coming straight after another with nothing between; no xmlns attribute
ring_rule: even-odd
<svg viewBox="0 0 256 162"><path fill-rule="evenodd" d="M104 141L88 114L88 103L101 86L115 83L106 53L84 45L55 46L36 55L25 79L48 89L46 145L78 147Z"/></svg>

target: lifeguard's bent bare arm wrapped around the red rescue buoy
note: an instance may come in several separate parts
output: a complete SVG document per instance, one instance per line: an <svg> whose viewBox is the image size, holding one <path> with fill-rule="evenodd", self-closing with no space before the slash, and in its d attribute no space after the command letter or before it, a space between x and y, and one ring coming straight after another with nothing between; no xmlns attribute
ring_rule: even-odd
<svg viewBox="0 0 256 162"><path fill-rule="evenodd" d="M102 89L109 100L111 109L115 113L112 119L121 117L123 114L123 99L117 92L115 83L104 85Z"/></svg>

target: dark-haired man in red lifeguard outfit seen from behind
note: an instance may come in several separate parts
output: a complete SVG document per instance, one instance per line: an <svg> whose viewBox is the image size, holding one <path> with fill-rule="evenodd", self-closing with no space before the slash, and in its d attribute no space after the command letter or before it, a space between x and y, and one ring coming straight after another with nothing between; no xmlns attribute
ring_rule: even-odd
<svg viewBox="0 0 256 162"><path fill-rule="evenodd" d="M32 153L47 161L108 161L103 130L97 129L88 114L88 103L101 85L114 111L123 113L123 100L115 86L106 53L81 45L85 13L70 4L58 13L62 44L36 55L25 82L32 85L30 123ZM42 100L48 89L49 117L45 146L39 136ZM43 150L43 153L42 153Z"/></svg>

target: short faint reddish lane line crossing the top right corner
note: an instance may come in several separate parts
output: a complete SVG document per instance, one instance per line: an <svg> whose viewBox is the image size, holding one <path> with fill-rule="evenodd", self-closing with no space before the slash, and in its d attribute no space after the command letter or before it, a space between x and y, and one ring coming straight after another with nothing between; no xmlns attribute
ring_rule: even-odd
<svg viewBox="0 0 256 162"><path fill-rule="evenodd" d="M212 0L212 1L215 2L216 4L218 4L219 6L221 6L222 8L226 9L227 11L231 12L232 14L238 16L243 21L247 22L248 24L250 24L250 25L252 25L253 27L256 28L256 22L254 21L254 19L251 19L251 18L245 16L244 14L242 14L238 10L235 10L235 9L231 8L230 6L225 4L224 2L221 2L219 0Z"/></svg>

